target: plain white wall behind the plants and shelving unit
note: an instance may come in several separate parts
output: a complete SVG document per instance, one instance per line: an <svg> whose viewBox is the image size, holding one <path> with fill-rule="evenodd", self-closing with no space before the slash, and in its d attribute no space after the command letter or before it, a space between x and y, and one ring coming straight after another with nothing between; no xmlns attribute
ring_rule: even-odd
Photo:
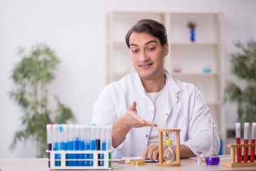
<svg viewBox="0 0 256 171"><path fill-rule="evenodd" d="M93 103L106 86L106 13L108 11L222 12L225 14L225 53L235 51L232 41L256 39L253 0L0 0L0 157L35 157L34 143L19 143L8 150L20 128L22 111L8 92L10 76L19 61L16 48L45 42L61 59L56 80L49 86L71 107L78 123L90 123ZM124 38L123 38L124 39ZM228 64L226 65L228 66ZM226 77L229 76L226 70ZM235 110L227 105L227 128L235 122Z"/></svg>

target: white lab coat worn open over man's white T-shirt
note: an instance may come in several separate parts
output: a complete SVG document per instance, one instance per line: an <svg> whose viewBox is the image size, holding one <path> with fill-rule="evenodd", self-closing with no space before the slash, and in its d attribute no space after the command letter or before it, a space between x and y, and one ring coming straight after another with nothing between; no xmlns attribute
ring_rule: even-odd
<svg viewBox="0 0 256 171"><path fill-rule="evenodd" d="M180 129L180 144L187 145L195 154L207 155L210 150L212 115L203 95L190 83L182 83L165 71L165 129ZM92 123L115 123L135 101L140 118L153 122L154 105L148 97L137 73L106 86L94 105ZM132 128L113 157L141 156L148 144L151 127ZM163 128L162 128L163 129ZM220 139L215 125L214 145L220 150ZM175 145L175 140L174 140Z"/></svg>

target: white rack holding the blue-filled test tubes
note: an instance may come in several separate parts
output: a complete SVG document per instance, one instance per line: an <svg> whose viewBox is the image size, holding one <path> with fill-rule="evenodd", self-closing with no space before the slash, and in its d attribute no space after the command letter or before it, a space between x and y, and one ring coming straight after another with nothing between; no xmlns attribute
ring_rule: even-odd
<svg viewBox="0 0 256 171"><path fill-rule="evenodd" d="M113 150L73 150L73 151L66 151L66 150L46 150L46 152L50 152L50 167L49 170L113 170L111 167L111 155L109 155ZM59 159L55 159L55 155L58 154L61 157ZM66 155L68 154L79 154L79 155L93 155L93 158L86 158L86 159L68 159ZM98 155L104 155L104 158L98 158ZM60 166L56 166L55 162L59 161ZM66 163L68 161L92 161L92 166L67 166ZM98 162L103 162L103 165L98 165Z"/></svg>

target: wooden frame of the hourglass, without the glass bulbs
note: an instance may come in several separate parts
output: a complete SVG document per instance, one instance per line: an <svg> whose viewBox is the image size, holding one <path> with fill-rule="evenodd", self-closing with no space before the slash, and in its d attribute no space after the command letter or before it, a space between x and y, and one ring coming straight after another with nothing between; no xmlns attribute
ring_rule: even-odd
<svg viewBox="0 0 256 171"><path fill-rule="evenodd" d="M180 166L180 130L179 129L157 129L159 132L159 162L158 166ZM176 163L163 162L163 132L165 133L176 133Z"/></svg>

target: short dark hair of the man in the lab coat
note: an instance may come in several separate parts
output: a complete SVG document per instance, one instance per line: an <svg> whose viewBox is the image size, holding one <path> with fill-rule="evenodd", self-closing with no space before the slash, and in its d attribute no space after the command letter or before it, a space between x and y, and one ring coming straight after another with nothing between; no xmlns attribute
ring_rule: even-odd
<svg viewBox="0 0 256 171"><path fill-rule="evenodd" d="M150 36L157 37L163 47L165 43L167 43L167 34L166 29L163 24L158 23L158 21L154 21L151 19L142 19L137 22L126 34L126 44L128 48L130 48L130 34L131 33L148 33Z"/></svg>

